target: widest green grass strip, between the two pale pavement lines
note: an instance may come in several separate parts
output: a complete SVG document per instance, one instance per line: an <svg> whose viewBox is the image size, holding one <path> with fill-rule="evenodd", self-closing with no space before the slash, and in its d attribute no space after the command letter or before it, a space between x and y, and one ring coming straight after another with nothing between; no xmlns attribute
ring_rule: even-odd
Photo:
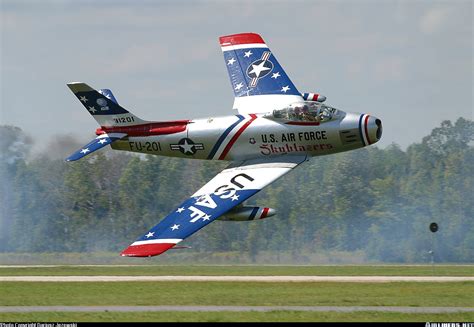
<svg viewBox="0 0 474 327"><path fill-rule="evenodd" d="M2 282L0 305L470 307L473 282Z"/></svg>

